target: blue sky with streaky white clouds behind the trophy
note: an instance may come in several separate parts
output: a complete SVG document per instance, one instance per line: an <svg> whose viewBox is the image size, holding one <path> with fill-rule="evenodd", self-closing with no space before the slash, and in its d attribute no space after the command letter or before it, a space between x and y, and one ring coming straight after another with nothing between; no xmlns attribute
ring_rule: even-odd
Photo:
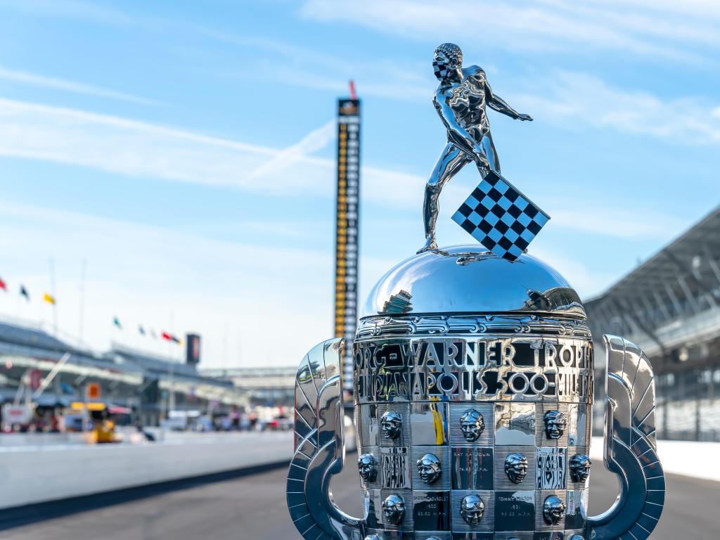
<svg viewBox="0 0 720 540"><path fill-rule="evenodd" d="M50 323L52 258L60 330L95 348L166 352L142 324L295 364L332 331L335 100L354 78L362 297L423 243L445 41L534 117L490 112L552 217L531 253L598 294L719 203L719 35L705 0L0 0L0 313ZM449 217L475 184L444 190L441 244L474 241Z"/></svg>

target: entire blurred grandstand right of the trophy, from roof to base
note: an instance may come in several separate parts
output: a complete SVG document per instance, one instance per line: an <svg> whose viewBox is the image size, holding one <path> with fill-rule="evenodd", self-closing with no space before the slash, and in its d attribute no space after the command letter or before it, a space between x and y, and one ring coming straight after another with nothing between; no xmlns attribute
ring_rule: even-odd
<svg viewBox="0 0 720 540"><path fill-rule="evenodd" d="M633 341L649 357L658 436L720 441L720 207L585 309L596 369L605 369L603 333ZM605 376L597 375L600 403ZM595 410L596 427L602 418Z"/></svg>

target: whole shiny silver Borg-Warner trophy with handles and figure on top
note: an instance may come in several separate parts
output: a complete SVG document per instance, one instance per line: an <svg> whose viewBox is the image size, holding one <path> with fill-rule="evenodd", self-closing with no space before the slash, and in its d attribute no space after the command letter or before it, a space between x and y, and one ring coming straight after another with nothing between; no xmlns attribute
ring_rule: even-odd
<svg viewBox="0 0 720 540"><path fill-rule="evenodd" d="M456 45L439 46L433 67L448 143L426 188L426 244L374 286L352 345L364 516L329 490L344 460L333 339L297 372L292 520L307 540L647 539L665 496L647 357L603 336L604 461L620 493L588 517L592 336L575 290L525 253L549 218L500 176L485 106L531 118L481 68L462 68ZM482 248L439 249L440 189L471 161L482 181L453 220Z"/></svg>

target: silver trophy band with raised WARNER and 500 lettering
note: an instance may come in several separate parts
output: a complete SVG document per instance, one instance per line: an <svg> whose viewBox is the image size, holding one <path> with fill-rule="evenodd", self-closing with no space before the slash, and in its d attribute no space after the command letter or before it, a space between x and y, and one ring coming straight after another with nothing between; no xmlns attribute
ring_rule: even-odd
<svg viewBox="0 0 720 540"><path fill-rule="evenodd" d="M588 397L590 342L571 338L356 341L361 400Z"/></svg>

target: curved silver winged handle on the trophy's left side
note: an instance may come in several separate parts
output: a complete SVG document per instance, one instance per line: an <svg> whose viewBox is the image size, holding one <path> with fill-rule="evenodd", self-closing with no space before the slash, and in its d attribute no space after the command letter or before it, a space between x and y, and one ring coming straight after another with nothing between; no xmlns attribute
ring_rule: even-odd
<svg viewBox="0 0 720 540"><path fill-rule="evenodd" d="M342 348L342 338L316 345L295 378L295 453L287 473L287 506L307 540L360 540L363 532L362 521L343 513L330 492L330 478L345 462Z"/></svg>

